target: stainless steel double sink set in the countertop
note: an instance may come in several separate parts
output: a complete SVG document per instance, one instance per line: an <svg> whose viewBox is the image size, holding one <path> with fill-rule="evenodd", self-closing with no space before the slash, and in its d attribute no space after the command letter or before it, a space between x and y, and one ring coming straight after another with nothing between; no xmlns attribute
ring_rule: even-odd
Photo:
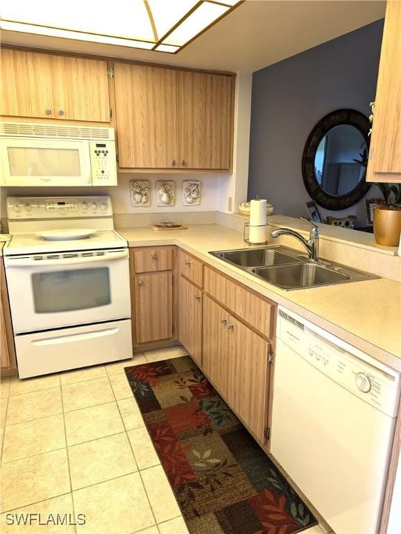
<svg viewBox="0 0 401 534"><path fill-rule="evenodd" d="M371 273L365 273L325 259L312 261L302 256L299 250L280 245L253 249L220 250L210 252L210 254L223 259L228 264L253 273L253 275L284 289L284 291L378 278Z"/></svg>

